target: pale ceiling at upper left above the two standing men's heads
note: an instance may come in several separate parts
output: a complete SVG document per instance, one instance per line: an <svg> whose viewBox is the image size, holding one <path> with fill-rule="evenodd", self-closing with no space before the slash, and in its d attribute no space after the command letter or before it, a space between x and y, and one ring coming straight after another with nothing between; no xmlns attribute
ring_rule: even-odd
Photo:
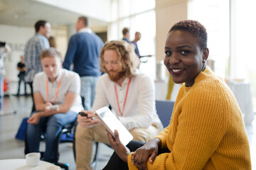
<svg viewBox="0 0 256 170"><path fill-rule="evenodd" d="M75 24L81 13L31 0L0 0L0 24L33 27L36 21L49 21L52 27ZM91 28L107 29L107 22L90 18Z"/></svg>

